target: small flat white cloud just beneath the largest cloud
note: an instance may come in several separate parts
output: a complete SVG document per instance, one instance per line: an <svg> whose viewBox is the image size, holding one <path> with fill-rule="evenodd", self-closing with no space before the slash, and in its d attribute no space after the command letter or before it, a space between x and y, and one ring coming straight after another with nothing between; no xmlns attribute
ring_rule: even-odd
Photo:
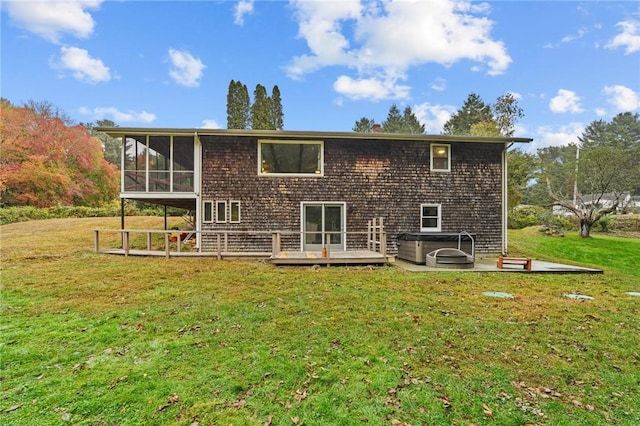
<svg viewBox="0 0 640 426"><path fill-rule="evenodd" d="M381 80L375 77L353 79L346 75L338 77L333 83L333 89L350 99L406 99L409 97L409 86L397 83L397 78Z"/></svg>

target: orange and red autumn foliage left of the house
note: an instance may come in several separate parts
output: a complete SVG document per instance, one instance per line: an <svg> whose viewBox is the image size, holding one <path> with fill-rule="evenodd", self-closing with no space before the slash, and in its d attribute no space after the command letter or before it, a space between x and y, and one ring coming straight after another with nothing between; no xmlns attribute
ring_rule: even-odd
<svg viewBox="0 0 640 426"><path fill-rule="evenodd" d="M3 206L95 207L114 199L117 169L84 127L67 126L46 108L0 104Z"/></svg>

